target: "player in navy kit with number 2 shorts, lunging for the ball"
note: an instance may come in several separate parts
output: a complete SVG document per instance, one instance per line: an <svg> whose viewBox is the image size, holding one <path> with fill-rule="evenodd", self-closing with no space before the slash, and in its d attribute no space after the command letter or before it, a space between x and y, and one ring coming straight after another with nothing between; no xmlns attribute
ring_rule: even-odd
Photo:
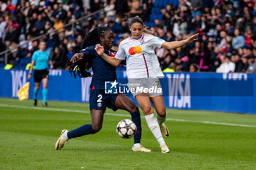
<svg viewBox="0 0 256 170"><path fill-rule="evenodd" d="M95 28L85 36L83 42L84 49L80 50L80 53L76 53L71 58L71 62L69 62L69 66L72 66L73 70L77 70L76 66L83 65L78 69L80 72L79 74L82 75L82 77L87 77L89 74L84 69L86 64L84 61L89 61L89 63L91 63L94 72L90 85L91 124L83 125L72 131L67 131L67 129L61 131L61 136L55 144L56 150L61 150L69 139L97 133L102 128L105 109L106 107L109 107L114 111L117 109L127 110L132 116L132 121L137 125L137 132L134 136L132 150L135 152L151 152L151 150L146 149L140 144L140 112L135 103L124 93L105 94L105 81L116 80L116 67L111 66L97 54L95 50L95 45L97 44L104 47L104 53L107 55L116 55L116 51L110 49L113 44L113 32L109 28L100 27Z"/></svg>

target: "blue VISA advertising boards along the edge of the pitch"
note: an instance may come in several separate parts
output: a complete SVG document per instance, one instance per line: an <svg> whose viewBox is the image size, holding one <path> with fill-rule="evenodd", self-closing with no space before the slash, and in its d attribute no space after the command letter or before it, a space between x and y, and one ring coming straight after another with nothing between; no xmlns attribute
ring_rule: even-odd
<svg viewBox="0 0 256 170"><path fill-rule="evenodd" d="M24 70L0 70L0 97L18 98L18 89L25 85L28 74ZM120 85L127 83L126 72L117 72L117 77ZM167 73L165 78L160 79L167 108L250 114L256 114L255 81L256 74L244 73ZM75 79L66 70L51 70L48 101L88 103L90 82L91 77ZM29 88L31 99L33 89L32 77ZM135 101L131 93L126 91L126 94ZM42 98L42 85L38 98Z"/></svg>

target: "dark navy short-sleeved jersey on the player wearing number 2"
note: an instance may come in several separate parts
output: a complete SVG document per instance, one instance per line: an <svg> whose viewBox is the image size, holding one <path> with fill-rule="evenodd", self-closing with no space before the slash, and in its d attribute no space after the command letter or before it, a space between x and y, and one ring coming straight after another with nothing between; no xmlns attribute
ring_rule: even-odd
<svg viewBox="0 0 256 170"><path fill-rule="evenodd" d="M100 55L97 54L94 46L86 47L86 49L80 50L83 53L83 57L89 58L92 66L92 80L90 88L92 89L105 89L105 81L116 80L116 67L107 63ZM106 55L114 57L116 55L115 50L104 50Z"/></svg>

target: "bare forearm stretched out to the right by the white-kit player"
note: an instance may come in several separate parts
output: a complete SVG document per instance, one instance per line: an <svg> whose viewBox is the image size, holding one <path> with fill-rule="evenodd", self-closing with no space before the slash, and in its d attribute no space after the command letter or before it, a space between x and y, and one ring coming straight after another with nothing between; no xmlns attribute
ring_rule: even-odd
<svg viewBox="0 0 256 170"><path fill-rule="evenodd" d="M197 40L198 38L198 34L189 36L189 38L184 39L182 41L178 41L178 42L164 42L162 43L161 48L165 48L167 50L173 50L176 49L178 47L182 47L184 45L188 45L190 42L193 42L195 40Z"/></svg>

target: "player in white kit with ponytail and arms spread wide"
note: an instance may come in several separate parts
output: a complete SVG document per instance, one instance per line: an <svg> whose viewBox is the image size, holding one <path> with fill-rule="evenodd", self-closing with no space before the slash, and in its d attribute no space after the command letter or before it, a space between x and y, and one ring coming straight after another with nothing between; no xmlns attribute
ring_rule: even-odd
<svg viewBox="0 0 256 170"><path fill-rule="evenodd" d="M176 49L177 47L193 42L198 37L198 34L195 34L183 41L165 42L163 39L152 36L150 31L146 29L143 20L139 17L132 19L129 30L132 36L124 39L120 43L118 52L114 58L103 53L104 48L101 45L97 45L95 50L97 50L97 53L101 55L105 61L113 66L118 66L122 60L126 59L128 86L129 88L135 89L161 88L158 78L164 77L164 74L162 74L159 68L159 62L154 52L154 47L165 48L167 50ZM164 124L166 110L162 91L158 91L158 93L143 93L135 90L135 93L132 93L132 95L135 97L141 109L143 109L146 123L159 142L161 151L163 153L170 152L162 138L162 134L165 137L169 136L169 131ZM150 104L150 100L156 109L157 118L154 117L154 110Z"/></svg>

